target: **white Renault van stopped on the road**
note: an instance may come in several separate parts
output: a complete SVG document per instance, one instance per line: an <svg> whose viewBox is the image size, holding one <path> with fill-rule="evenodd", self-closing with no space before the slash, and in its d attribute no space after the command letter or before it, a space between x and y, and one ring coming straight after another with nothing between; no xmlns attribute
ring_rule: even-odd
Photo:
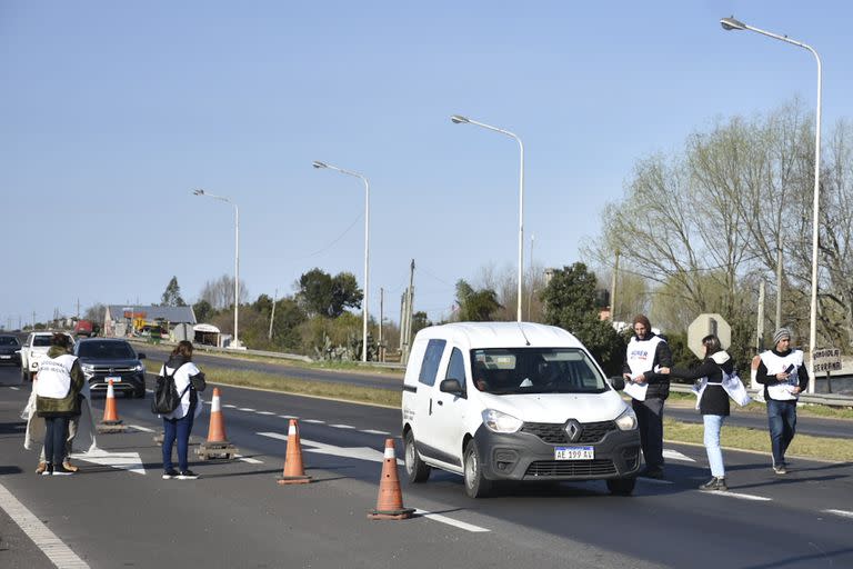
<svg viewBox="0 0 853 569"><path fill-rule="evenodd" d="M612 381L612 383L611 383ZM636 417L583 345L561 328L460 322L414 338L403 380L410 482L462 475L472 498L496 481L606 480L630 495Z"/></svg>

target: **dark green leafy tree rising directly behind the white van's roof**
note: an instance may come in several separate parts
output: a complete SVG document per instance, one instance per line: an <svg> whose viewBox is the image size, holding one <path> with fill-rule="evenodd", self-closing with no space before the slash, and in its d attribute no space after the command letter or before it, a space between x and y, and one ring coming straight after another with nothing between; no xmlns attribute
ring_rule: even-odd
<svg viewBox="0 0 853 569"><path fill-rule="evenodd" d="M609 321L599 318L596 278L576 262L554 271L542 292L545 322L578 337L609 375L618 375L624 359L625 341Z"/></svg>

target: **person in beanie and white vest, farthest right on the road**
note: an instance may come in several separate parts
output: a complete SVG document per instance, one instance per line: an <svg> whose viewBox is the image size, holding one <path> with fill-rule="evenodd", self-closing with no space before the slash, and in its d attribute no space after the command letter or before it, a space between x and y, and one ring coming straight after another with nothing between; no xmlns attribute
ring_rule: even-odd
<svg viewBox="0 0 853 569"><path fill-rule="evenodd" d="M809 372L803 366L803 352L791 348L791 330L780 328L773 335L772 350L761 355L755 380L764 386L770 423L773 471L787 473L785 451L796 432L796 400L809 386Z"/></svg>

